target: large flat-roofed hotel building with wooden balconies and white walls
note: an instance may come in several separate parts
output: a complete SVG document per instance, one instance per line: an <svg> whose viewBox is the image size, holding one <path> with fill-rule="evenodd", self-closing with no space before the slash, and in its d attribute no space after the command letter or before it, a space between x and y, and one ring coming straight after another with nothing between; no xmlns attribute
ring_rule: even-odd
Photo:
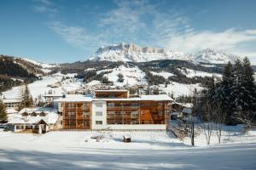
<svg viewBox="0 0 256 170"><path fill-rule="evenodd" d="M166 94L130 95L127 90L96 90L93 96L56 99L64 129L166 130L172 111Z"/></svg>

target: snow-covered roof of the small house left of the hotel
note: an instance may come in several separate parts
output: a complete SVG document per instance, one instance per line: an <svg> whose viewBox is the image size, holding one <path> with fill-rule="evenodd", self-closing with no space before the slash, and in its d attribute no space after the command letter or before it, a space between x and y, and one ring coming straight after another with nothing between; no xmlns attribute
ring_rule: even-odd
<svg viewBox="0 0 256 170"><path fill-rule="evenodd" d="M41 113L46 114L45 116L22 116L22 113ZM9 124L37 124L41 120L44 120L47 124L55 124L59 118L59 115L55 110L49 111L49 108L26 108L21 110L15 116L9 118Z"/></svg>

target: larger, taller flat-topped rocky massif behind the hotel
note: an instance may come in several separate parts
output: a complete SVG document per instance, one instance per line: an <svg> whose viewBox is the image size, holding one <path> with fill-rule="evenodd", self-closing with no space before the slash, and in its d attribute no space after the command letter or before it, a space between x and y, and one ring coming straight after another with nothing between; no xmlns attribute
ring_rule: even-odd
<svg viewBox="0 0 256 170"><path fill-rule="evenodd" d="M163 48L140 47L133 43L111 45L99 48L90 60L147 62L157 59L190 60L191 55L177 51L166 51Z"/></svg>

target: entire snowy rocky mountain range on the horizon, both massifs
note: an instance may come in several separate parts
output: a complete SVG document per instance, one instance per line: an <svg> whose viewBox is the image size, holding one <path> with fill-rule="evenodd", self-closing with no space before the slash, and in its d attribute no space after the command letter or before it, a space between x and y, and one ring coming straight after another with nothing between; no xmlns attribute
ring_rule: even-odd
<svg viewBox="0 0 256 170"><path fill-rule="evenodd" d="M133 43L120 43L119 45L99 48L90 60L147 62L159 59L179 59L198 63L225 64L228 61L234 63L237 58L236 55L226 54L210 48L195 54L186 54L173 50L167 51L163 48L140 47Z"/></svg>

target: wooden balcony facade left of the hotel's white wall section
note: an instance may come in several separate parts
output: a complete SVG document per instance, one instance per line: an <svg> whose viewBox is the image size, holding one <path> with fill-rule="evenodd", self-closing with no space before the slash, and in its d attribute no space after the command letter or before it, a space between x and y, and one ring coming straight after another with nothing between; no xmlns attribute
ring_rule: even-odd
<svg viewBox="0 0 256 170"><path fill-rule="evenodd" d="M62 106L64 129L91 128L91 102L65 102Z"/></svg>

